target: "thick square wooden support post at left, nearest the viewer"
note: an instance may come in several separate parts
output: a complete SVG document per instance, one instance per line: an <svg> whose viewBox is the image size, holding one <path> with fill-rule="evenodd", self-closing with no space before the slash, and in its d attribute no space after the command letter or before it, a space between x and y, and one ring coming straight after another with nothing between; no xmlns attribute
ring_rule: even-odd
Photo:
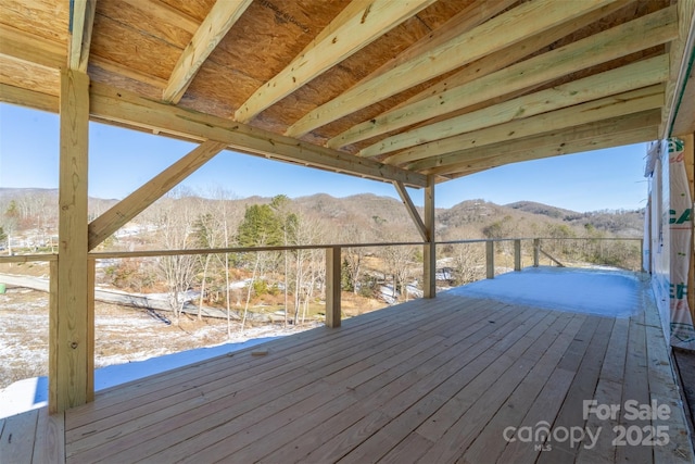
<svg viewBox="0 0 695 464"><path fill-rule="evenodd" d="M51 303L49 337L49 409L52 412L85 404L93 394L89 391L93 346L89 342L88 327L87 74L73 70L61 72L60 114L59 278Z"/></svg>

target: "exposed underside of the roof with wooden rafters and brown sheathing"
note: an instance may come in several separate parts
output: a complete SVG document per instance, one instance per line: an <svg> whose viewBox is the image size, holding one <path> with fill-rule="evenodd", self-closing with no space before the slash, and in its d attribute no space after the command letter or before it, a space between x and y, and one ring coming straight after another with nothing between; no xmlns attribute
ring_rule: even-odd
<svg viewBox="0 0 695 464"><path fill-rule="evenodd" d="M695 131L694 4L0 0L0 101L425 187Z"/></svg>

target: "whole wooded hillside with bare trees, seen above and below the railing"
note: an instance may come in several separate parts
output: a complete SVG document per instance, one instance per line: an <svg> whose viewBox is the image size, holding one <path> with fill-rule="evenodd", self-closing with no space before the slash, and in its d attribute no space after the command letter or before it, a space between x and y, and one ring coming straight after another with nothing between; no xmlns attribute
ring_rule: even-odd
<svg viewBox="0 0 695 464"><path fill-rule="evenodd" d="M390 197L319 193L238 199L225 191L213 197L175 189L96 251L421 241L405 206ZM90 199L89 214L97 217L114 204L115 200ZM601 239L640 237L642 211L578 213L532 202L498 205L468 200L437 210L435 220L437 239L442 242L543 238L543 250L569 265L633 269L640 265L639 241ZM530 265L531 244L531 240L522 244L525 265ZM0 252L50 253L56 248L56 191L0 189ZM495 254L498 272L513 266L511 242L497 243ZM484 243L442 244L438 259L440 286L484 278ZM249 308L266 308L269 313L282 310L296 324L323 311L325 265L323 249L102 259L97 279L102 286L130 292L167 294L175 321L184 305L195 300L200 308L226 308L243 321ZM40 268L39 275L46 272ZM421 273L419 246L342 250L342 287L359 311L421 294ZM349 298L344 303L349 306Z"/></svg>

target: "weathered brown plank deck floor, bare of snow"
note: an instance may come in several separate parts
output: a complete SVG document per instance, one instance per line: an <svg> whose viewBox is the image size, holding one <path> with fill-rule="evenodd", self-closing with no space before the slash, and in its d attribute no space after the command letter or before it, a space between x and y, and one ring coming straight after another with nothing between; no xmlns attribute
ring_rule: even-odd
<svg viewBox="0 0 695 464"><path fill-rule="evenodd" d="M692 462L646 298L611 318L440 293L104 390L64 417L4 419L0 462ZM584 419L593 399L621 411ZM630 421L628 400L670 412ZM547 441L505 440L543 426ZM614 446L620 426L626 440L665 426L669 443Z"/></svg>

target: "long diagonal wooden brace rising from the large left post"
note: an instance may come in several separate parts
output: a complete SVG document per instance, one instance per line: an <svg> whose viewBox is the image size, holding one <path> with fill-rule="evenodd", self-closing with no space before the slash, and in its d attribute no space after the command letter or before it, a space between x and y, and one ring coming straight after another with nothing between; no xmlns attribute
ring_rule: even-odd
<svg viewBox="0 0 695 464"><path fill-rule="evenodd" d="M112 234L143 212L149 205L162 198L181 180L212 160L227 148L227 143L207 140L193 151L172 164L152 180L114 204L109 211L89 224L89 250L108 239Z"/></svg>

